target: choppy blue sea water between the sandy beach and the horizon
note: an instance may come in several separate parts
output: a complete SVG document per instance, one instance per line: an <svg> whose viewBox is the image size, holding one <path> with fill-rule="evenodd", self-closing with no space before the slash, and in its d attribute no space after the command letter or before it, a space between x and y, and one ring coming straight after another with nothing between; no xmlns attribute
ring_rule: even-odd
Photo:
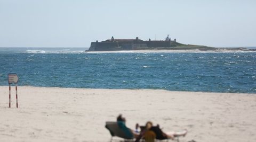
<svg viewBox="0 0 256 142"><path fill-rule="evenodd" d="M256 93L256 52L84 52L0 48L0 85Z"/></svg>

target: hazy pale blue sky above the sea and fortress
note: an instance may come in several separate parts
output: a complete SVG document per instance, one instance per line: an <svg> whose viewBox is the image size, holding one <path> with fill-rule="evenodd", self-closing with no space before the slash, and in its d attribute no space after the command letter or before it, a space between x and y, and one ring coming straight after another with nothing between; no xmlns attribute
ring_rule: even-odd
<svg viewBox="0 0 256 142"><path fill-rule="evenodd" d="M111 39L256 46L255 0L0 0L0 47L90 47Z"/></svg>

